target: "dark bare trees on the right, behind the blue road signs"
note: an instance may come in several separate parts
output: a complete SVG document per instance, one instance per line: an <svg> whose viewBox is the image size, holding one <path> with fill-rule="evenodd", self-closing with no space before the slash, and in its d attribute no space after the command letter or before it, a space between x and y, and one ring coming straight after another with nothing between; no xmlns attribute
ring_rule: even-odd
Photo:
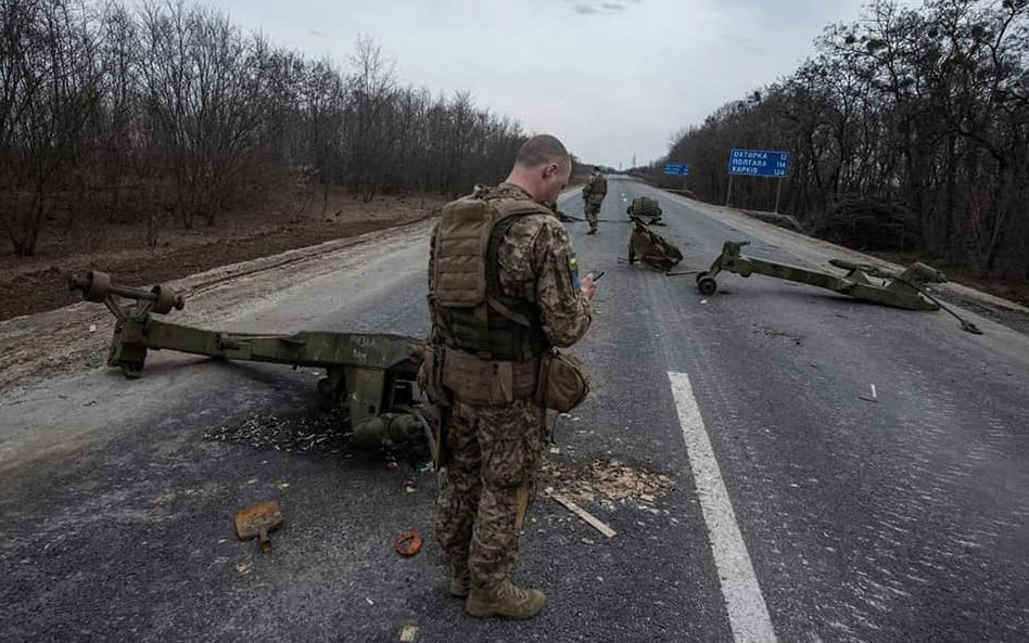
<svg viewBox="0 0 1029 643"><path fill-rule="evenodd" d="M686 187L721 203L734 147L792 152L782 208L810 230L864 226L886 234L856 245L1025 281L1029 2L875 0L856 24L827 27L796 72L678 132L641 170L678 188L661 165L690 164ZM733 202L772 209L776 183L736 177Z"/></svg>

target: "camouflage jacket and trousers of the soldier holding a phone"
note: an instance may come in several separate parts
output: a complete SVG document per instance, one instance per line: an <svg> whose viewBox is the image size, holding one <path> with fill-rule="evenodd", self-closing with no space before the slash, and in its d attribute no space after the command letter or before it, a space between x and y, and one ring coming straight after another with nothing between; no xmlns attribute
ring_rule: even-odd
<svg viewBox="0 0 1029 643"><path fill-rule="evenodd" d="M522 200L533 207L531 196L509 183L490 191L487 198ZM433 248L437 234L439 226ZM519 216L496 250L503 295L538 311L547 345L570 346L589 327L573 257L564 227L542 205L538 213ZM433 262L431 255L430 298L435 292ZM433 320L433 339L440 342L435 316ZM472 588L498 587L518 558L519 504L524 507L546 445L546 409L534 395L500 406L455 398L443 413L443 429L436 538L452 567L468 570ZM452 586L452 592L462 595L460 588Z"/></svg>

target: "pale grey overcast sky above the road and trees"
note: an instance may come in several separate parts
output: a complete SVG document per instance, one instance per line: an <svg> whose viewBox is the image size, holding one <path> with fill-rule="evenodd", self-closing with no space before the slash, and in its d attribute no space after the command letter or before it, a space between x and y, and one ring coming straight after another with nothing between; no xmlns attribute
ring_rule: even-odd
<svg viewBox="0 0 1029 643"><path fill-rule="evenodd" d="M628 168L720 105L788 75L867 0L206 0L244 30L346 72L368 36L408 85Z"/></svg>

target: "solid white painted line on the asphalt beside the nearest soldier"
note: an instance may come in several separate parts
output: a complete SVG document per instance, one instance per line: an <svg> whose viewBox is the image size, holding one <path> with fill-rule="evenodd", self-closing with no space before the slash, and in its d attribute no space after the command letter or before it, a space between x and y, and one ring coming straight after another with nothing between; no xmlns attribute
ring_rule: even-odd
<svg viewBox="0 0 1029 643"><path fill-rule="evenodd" d="M694 470L697 496L708 527L711 553L722 581L722 596L736 643L775 643L768 608L758 586L747 544L736 524L719 462L700 417L693 386L686 373L669 371L686 453Z"/></svg>

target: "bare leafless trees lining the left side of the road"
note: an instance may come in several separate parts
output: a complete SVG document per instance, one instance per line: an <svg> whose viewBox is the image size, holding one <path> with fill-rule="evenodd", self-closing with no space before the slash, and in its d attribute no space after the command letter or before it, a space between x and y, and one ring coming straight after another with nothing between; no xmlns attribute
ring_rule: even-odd
<svg viewBox="0 0 1029 643"><path fill-rule="evenodd" d="M368 38L341 69L181 1L0 0L0 232L20 255L48 226L193 228L316 185L322 208L331 185L456 195L503 179L526 138L467 92L402 83Z"/></svg>

